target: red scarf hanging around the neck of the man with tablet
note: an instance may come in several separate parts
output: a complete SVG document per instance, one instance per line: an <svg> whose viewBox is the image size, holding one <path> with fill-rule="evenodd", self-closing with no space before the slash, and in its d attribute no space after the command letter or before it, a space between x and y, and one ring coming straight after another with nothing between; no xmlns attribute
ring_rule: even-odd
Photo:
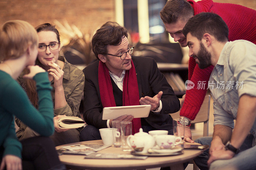
<svg viewBox="0 0 256 170"><path fill-rule="evenodd" d="M140 105L139 87L136 71L133 62L132 68L125 71L123 81L123 106ZM109 70L105 63L99 62L99 88L100 99L103 107L115 107L116 102L113 94L113 87L109 76ZM140 118L132 120L132 134L139 132L141 128Z"/></svg>

